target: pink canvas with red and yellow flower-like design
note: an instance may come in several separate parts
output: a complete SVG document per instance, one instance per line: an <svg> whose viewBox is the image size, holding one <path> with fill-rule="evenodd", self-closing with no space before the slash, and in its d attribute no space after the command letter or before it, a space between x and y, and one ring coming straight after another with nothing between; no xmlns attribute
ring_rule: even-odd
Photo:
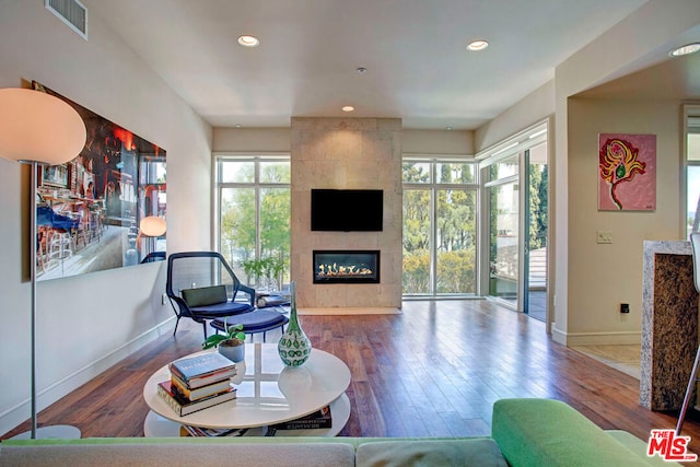
<svg viewBox="0 0 700 467"><path fill-rule="evenodd" d="M656 209L656 135L598 135L598 210Z"/></svg>

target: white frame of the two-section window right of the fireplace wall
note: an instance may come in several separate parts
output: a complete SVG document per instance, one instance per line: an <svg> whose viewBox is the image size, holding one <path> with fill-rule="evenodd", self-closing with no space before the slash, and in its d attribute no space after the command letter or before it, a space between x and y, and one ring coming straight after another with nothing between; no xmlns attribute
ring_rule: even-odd
<svg viewBox="0 0 700 467"><path fill-rule="evenodd" d="M416 164L421 165L422 167L427 167L428 172L428 180L424 182L407 182L406 177L402 174L402 188L404 188L404 198L407 199L409 192L415 191L425 191L428 194L429 202L427 208L430 211L429 214L429 234L428 234L428 244L429 244L429 284L428 290L422 292L407 292L404 290L402 296L404 299L448 299L448 297L476 297L479 295L479 280L478 280L478 271L479 271L479 173L478 165L475 161L474 156L469 155L436 155L436 154L409 154L405 153L402 156L402 164ZM468 164L471 168L471 182L469 183L455 183L454 180L442 182L440 180L439 171L441 166L444 164ZM439 213L439 197L440 194L445 192L469 192L474 197L474 291L468 292L444 292L441 291L440 278L439 278L439 255L441 250L441 246L439 245L439 225L438 225L438 213ZM404 219L404 222L407 222L407 219ZM406 225L402 226L406 229ZM402 243L402 248L405 249L405 243ZM406 275L406 271L404 272Z"/></svg>

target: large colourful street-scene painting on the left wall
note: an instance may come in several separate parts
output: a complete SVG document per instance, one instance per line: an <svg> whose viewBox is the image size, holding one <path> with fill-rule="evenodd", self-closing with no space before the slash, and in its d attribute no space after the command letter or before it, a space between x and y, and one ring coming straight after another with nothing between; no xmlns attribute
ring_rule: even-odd
<svg viewBox="0 0 700 467"><path fill-rule="evenodd" d="M32 86L70 104L88 131L77 157L40 167L37 280L162 259L165 233L147 236L139 225L166 215L165 150L40 83Z"/></svg>

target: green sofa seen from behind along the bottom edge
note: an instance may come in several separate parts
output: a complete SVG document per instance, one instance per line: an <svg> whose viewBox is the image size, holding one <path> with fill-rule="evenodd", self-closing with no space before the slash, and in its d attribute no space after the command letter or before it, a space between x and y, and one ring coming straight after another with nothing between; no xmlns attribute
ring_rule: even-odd
<svg viewBox="0 0 700 467"><path fill-rule="evenodd" d="M215 464L214 464L215 463ZM0 466L670 466L646 442L604 431L564 402L502 399L491 436L9 440Z"/></svg>

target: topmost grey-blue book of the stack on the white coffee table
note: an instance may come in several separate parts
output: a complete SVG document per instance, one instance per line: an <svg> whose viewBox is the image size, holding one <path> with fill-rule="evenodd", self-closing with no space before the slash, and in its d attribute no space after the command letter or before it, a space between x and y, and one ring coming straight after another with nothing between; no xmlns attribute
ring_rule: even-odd
<svg viewBox="0 0 700 467"><path fill-rule="evenodd" d="M236 365L219 352L207 352L175 360L168 369L184 382L188 389L231 378L236 375Z"/></svg>

